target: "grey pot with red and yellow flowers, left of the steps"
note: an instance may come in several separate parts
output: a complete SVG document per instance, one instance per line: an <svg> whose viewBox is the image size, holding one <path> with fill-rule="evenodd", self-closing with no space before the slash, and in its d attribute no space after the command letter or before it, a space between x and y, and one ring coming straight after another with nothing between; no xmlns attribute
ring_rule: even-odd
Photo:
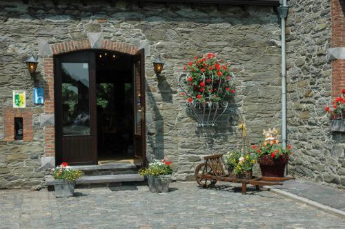
<svg viewBox="0 0 345 229"><path fill-rule="evenodd" d="M75 192L75 181L83 176L81 170L74 170L63 162L60 166L52 169L54 177L55 197L72 197Z"/></svg>

